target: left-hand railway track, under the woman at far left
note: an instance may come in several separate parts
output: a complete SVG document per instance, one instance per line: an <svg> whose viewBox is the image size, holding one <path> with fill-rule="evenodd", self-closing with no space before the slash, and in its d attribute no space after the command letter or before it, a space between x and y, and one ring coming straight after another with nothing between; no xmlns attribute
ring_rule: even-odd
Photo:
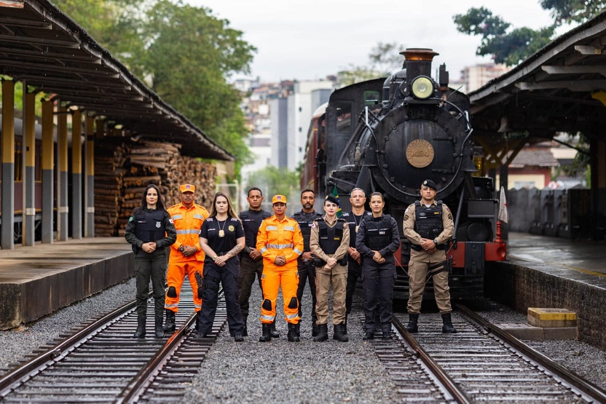
<svg viewBox="0 0 606 404"><path fill-rule="evenodd" d="M191 291L182 291L171 336L153 336L153 300L148 302L148 333L133 339L135 302L95 320L58 341L0 379L3 402L178 401L227 321L224 299L210 337L197 339ZM187 314L190 316L187 317ZM153 394L153 399L151 397Z"/></svg>

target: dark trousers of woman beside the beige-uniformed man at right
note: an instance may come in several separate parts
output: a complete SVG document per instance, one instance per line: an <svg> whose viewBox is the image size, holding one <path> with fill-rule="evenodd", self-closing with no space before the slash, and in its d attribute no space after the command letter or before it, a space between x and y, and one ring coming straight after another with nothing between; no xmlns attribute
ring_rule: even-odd
<svg viewBox="0 0 606 404"><path fill-rule="evenodd" d="M391 331L393 285L396 282L396 265L393 257L384 263L376 263L371 257L362 262L362 286L364 287L364 328L367 333L376 329ZM376 324L375 314L381 324Z"/></svg>

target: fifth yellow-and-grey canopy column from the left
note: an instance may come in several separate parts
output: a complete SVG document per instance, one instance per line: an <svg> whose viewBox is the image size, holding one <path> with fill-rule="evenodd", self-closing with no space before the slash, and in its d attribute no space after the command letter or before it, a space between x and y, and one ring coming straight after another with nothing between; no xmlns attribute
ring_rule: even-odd
<svg viewBox="0 0 606 404"><path fill-rule="evenodd" d="M82 238L82 114L72 115L72 238Z"/></svg>

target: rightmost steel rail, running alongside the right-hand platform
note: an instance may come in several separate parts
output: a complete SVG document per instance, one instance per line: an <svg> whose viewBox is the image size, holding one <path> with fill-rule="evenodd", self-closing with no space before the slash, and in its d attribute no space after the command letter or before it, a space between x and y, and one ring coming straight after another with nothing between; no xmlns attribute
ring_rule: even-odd
<svg viewBox="0 0 606 404"><path fill-rule="evenodd" d="M547 369L547 371L553 373L554 375L562 379L565 383L568 383L568 385L571 385L574 388L578 389L595 402L606 403L606 391L594 385L594 383L591 383L589 380L583 379L578 374L574 374L567 368L564 368L564 366L553 362L553 360L549 359L544 354L526 345L524 342L512 336L507 331L504 331L503 329L498 328L493 323L488 322L478 314L469 310L461 303L455 304L454 306L456 306L459 313L464 314L464 316L467 317L471 322L483 328L485 331L487 331L487 333L491 333L499 339L503 340L505 343L516 349L516 351L521 354L524 354L530 360L533 360L534 362L538 363L539 365Z"/></svg>

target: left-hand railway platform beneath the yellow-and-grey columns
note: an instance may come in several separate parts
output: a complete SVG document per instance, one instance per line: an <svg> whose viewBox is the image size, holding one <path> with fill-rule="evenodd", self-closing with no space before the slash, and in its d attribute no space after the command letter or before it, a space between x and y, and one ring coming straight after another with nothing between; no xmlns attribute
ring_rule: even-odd
<svg viewBox="0 0 606 404"><path fill-rule="evenodd" d="M0 250L0 329L39 319L134 274L124 237Z"/></svg>

